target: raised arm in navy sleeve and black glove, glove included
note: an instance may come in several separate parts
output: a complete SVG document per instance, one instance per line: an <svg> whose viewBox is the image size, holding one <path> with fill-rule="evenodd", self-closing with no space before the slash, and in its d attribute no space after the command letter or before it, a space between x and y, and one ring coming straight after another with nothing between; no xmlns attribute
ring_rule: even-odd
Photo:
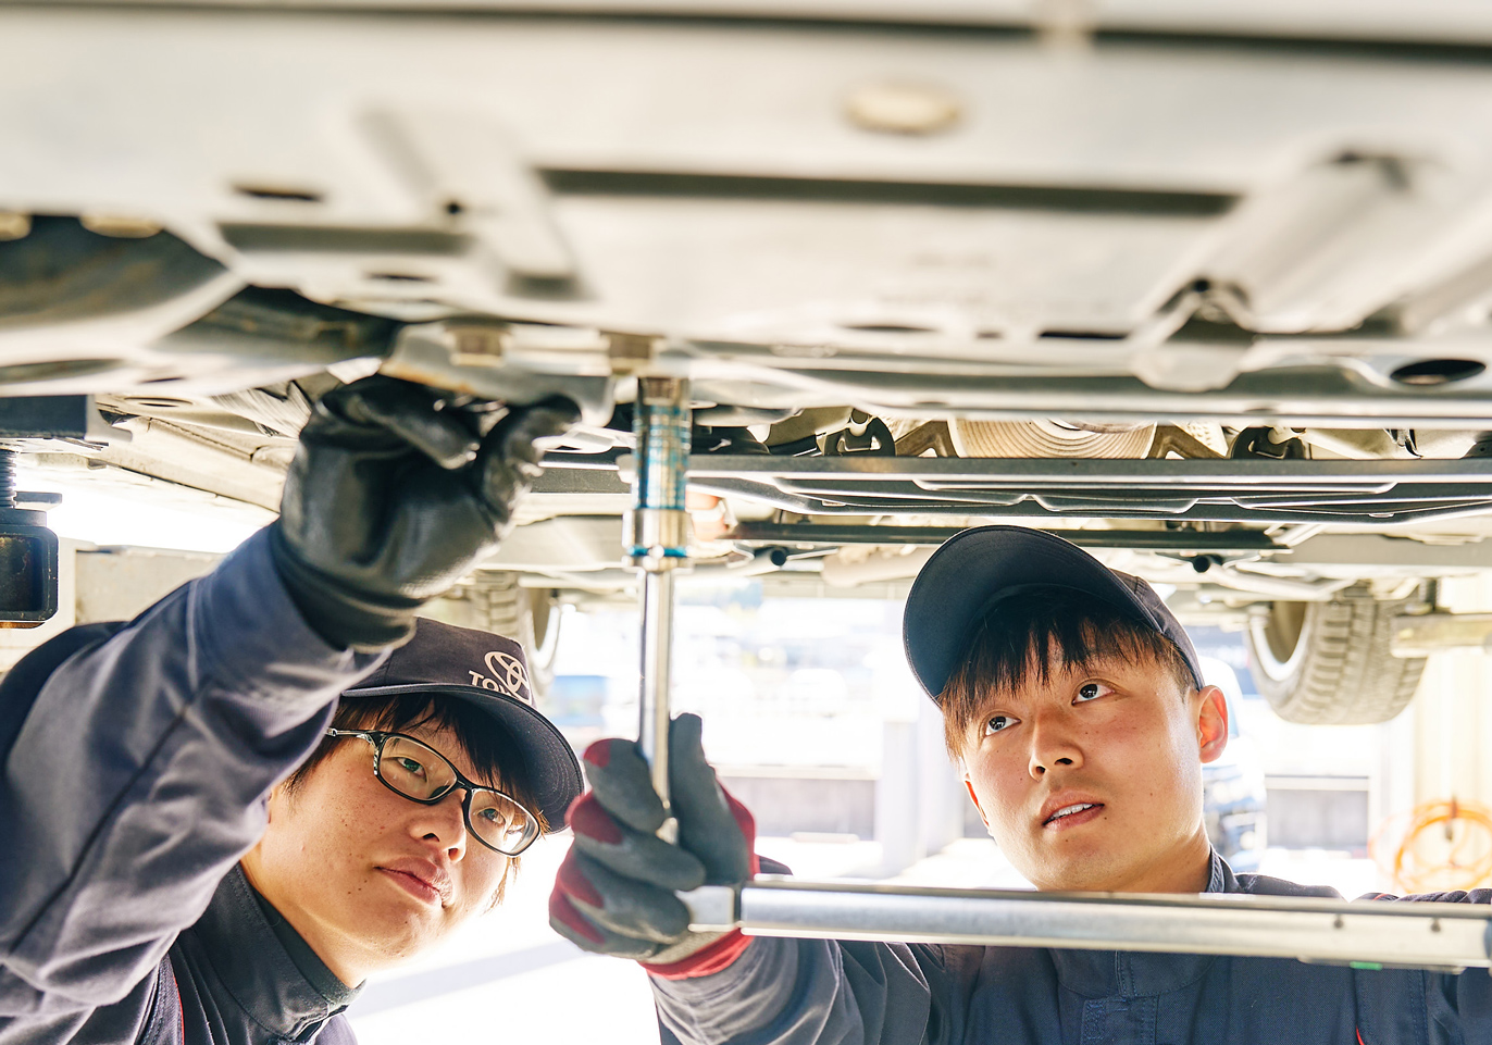
<svg viewBox="0 0 1492 1045"><path fill-rule="evenodd" d="M337 694L486 555L567 402L328 394L280 518L46 681L0 773L0 1027L115 1002L264 829Z"/></svg>

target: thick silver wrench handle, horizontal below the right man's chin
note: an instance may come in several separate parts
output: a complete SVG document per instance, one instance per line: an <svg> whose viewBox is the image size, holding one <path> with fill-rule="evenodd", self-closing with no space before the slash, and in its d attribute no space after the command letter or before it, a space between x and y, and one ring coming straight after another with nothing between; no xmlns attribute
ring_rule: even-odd
<svg viewBox="0 0 1492 1045"><path fill-rule="evenodd" d="M1279 896L935 890L759 878L682 893L691 927L755 936L1492 966L1492 906Z"/></svg>

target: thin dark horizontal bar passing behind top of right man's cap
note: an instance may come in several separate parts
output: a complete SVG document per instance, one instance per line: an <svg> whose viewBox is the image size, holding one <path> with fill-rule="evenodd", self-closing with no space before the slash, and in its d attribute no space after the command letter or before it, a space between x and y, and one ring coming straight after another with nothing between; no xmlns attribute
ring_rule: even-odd
<svg viewBox="0 0 1492 1045"><path fill-rule="evenodd" d="M836 525L816 522L740 522L724 540L773 545L925 545L935 546L962 533L935 525ZM1062 530L1079 548L1123 548L1170 552L1285 551L1258 530Z"/></svg>

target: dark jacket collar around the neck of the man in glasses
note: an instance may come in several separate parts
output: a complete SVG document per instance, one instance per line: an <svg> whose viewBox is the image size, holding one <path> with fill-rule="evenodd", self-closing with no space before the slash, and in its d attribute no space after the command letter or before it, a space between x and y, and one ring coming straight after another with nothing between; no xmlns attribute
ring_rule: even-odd
<svg viewBox="0 0 1492 1045"><path fill-rule="evenodd" d="M178 945L186 945L195 952L192 958L210 966L210 975L192 978L212 996L212 1008L224 1023L242 1021L248 1032L230 1029L230 1039L310 1041L358 996L358 988L342 984L254 891L237 866Z"/></svg>

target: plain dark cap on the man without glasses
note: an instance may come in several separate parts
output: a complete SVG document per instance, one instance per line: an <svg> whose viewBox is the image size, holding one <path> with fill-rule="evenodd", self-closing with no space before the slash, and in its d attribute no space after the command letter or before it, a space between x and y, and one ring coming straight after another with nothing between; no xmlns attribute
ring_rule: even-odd
<svg viewBox="0 0 1492 1045"><path fill-rule="evenodd" d="M1070 540L1019 525L956 533L932 552L912 584L901 639L912 673L930 697L947 687L991 608L1029 588L1055 585L1101 599L1170 639L1201 688L1201 663L1182 623L1137 576L1112 570Z"/></svg>

